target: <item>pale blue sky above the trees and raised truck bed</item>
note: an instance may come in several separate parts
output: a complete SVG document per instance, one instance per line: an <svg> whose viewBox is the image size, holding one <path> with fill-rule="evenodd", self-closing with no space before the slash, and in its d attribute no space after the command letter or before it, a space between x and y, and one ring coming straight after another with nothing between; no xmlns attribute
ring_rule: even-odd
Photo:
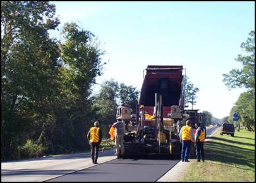
<svg viewBox="0 0 256 183"><path fill-rule="evenodd" d="M241 68L234 59L246 54L240 45L255 30L254 2L52 3L61 26L77 22L100 40L107 65L99 84L113 78L141 90L147 65L183 65L200 90L193 108L217 118L245 91L229 91L222 74Z"/></svg>

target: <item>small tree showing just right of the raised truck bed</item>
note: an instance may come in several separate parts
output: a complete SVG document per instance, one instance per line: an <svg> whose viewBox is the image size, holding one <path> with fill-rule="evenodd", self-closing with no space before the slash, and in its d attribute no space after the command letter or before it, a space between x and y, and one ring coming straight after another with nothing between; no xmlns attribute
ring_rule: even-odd
<svg viewBox="0 0 256 183"><path fill-rule="evenodd" d="M199 91L199 88L195 88L194 84L191 84L189 81L189 78L185 76L185 104L191 103L192 109L193 105L197 103L197 92Z"/></svg>

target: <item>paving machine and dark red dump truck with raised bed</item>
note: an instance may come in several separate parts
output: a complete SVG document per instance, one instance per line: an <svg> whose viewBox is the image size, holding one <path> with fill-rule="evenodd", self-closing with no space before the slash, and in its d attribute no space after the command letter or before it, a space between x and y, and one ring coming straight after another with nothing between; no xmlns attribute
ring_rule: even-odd
<svg viewBox="0 0 256 183"><path fill-rule="evenodd" d="M179 156L179 130L188 117L184 110L185 80L181 65L149 65L136 114L124 136L125 155Z"/></svg>

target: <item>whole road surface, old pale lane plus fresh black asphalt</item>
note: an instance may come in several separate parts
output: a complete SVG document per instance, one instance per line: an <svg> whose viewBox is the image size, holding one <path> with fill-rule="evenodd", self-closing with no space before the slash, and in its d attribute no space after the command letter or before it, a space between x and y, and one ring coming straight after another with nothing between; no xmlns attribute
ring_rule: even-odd
<svg viewBox="0 0 256 183"><path fill-rule="evenodd" d="M207 130L207 137L218 126ZM90 153L76 153L25 161L1 163L1 181L156 181L179 160L115 159L113 150L100 152L99 165L92 165ZM75 173L74 173L75 172ZM116 173L114 173L116 172ZM101 176L101 175L104 176ZM61 176L61 177L59 177ZM56 178L59 177L59 178ZM84 179L86 177L86 180ZM95 179L98 177L98 179Z"/></svg>

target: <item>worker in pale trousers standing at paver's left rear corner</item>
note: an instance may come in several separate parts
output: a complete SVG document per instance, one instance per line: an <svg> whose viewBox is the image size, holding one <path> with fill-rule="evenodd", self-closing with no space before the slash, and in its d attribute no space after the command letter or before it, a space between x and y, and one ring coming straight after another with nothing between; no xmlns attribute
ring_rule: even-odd
<svg viewBox="0 0 256 183"><path fill-rule="evenodd" d="M117 122L115 122L113 125L115 127L115 155L119 157L120 155L120 150L121 150L121 155L125 153L125 148L123 147L123 136L125 134L125 124L122 120L121 117L117 118Z"/></svg>

